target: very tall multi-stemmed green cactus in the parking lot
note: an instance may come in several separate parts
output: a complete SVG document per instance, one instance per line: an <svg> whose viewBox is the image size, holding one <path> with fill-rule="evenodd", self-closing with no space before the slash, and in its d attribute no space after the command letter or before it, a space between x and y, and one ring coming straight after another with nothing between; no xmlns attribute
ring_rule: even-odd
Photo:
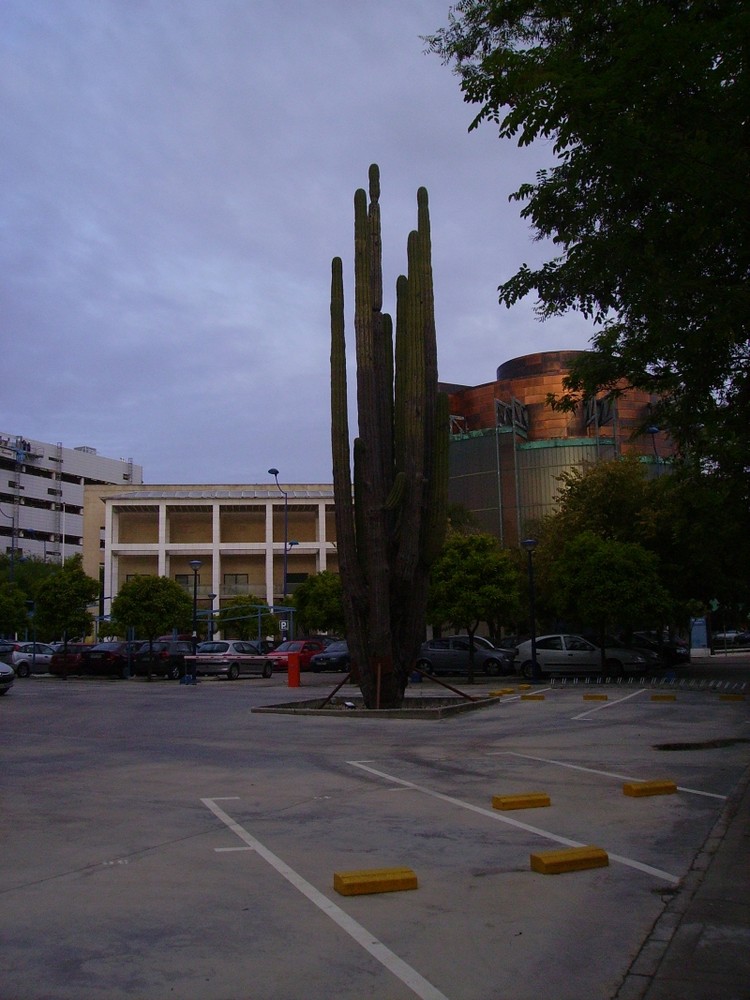
<svg viewBox="0 0 750 1000"><path fill-rule="evenodd" d="M331 277L331 443L339 572L352 661L368 708L398 707L425 632L432 561L445 535L448 401L437 391L427 191L407 275L396 282L395 343L382 311L380 175L354 195L354 329L359 434L349 449L344 283ZM353 457L353 463L352 463ZM353 468L352 468L353 465Z"/></svg>

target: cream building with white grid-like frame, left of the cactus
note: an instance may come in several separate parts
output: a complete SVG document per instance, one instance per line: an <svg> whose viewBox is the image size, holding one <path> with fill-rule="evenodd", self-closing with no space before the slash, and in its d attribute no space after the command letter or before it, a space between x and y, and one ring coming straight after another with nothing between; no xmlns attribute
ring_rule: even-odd
<svg viewBox="0 0 750 1000"><path fill-rule="evenodd" d="M101 613L129 578L166 576L201 613L253 595L284 606L309 575L338 572L327 485L140 486L86 490L84 569L103 567ZM199 562L197 574L191 562Z"/></svg>

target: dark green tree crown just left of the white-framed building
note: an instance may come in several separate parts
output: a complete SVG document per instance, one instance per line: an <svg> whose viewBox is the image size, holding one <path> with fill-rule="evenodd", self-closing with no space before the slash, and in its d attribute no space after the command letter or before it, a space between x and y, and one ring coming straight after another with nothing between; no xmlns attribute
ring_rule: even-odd
<svg viewBox="0 0 750 1000"><path fill-rule="evenodd" d="M93 624L89 608L99 596L99 581L83 572L83 557L73 556L44 580L35 602L36 633L48 639L88 635Z"/></svg>

